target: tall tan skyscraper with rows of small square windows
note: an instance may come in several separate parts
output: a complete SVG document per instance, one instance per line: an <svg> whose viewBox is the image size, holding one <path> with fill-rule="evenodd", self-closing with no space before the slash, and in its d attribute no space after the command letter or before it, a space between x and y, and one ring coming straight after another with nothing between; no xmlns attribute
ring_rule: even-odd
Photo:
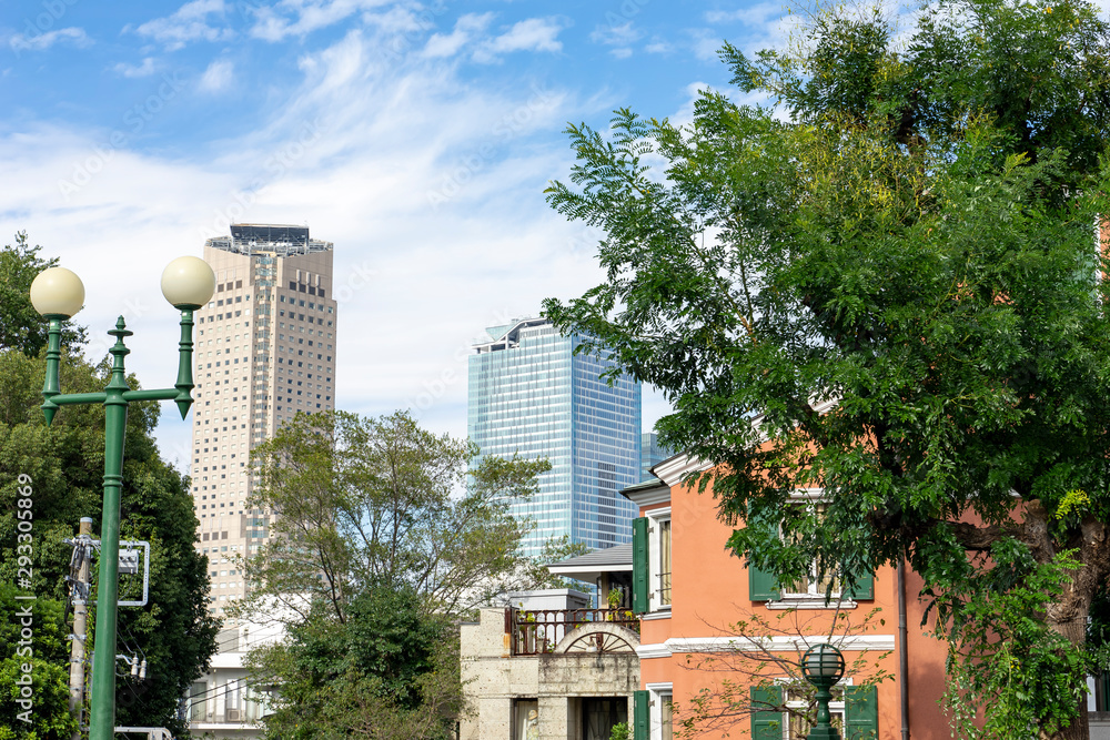
<svg viewBox="0 0 1110 740"><path fill-rule="evenodd" d="M216 292L196 312L192 495L218 617L245 592L234 556L269 536L268 513L246 507L251 449L297 412L335 407L332 251L306 226L268 224L204 244Z"/></svg>

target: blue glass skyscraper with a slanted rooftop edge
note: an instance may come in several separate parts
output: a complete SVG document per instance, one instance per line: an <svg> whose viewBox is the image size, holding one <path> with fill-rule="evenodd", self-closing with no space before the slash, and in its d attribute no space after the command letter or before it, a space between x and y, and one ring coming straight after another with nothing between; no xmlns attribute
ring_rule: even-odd
<svg viewBox="0 0 1110 740"><path fill-rule="evenodd" d="M609 386L598 376L614 366L575 355L577 336L559 336L544 318L486 330L468 367L467 435L485 455L535 459L552 469L513 516L536 527L522 543L538 555L552 537L592 548L627 543L636 507L617 491L640 479L640 385L628 376Z"/></svg>

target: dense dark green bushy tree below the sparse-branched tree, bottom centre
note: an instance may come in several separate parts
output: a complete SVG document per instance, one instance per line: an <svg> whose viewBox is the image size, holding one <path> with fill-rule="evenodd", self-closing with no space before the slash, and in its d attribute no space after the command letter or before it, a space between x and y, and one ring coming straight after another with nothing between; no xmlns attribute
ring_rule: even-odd
<svg viewBox="0 0 1110 740"><path fill-rule="evenodd" d="M426 614L411 586L369 586L344 612L341 622L320 608L250 653L252 683L276 688L265 737L453 738L463 693L451 620Z"/></svg>

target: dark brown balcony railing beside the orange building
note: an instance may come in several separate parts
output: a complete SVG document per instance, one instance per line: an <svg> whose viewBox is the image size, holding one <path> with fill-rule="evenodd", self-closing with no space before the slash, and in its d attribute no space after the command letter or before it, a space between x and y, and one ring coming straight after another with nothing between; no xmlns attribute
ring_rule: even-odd
<svg viewBox="0 0 1110 740"><path fill-rule="evenodd" d="M506 609L505 627L509 633L511 655L552 653L559 641L576 628L596 625L629 629L639 635L639 618L627 609ZM574 651L606 651L610 641L602 632L583 636Z"/></svg>

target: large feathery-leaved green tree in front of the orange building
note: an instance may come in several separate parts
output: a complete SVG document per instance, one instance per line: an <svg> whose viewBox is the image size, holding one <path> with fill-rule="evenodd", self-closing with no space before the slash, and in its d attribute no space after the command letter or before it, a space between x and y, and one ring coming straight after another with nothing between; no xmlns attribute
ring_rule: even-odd
<svg viewBox="0 0 1110 740"><path fill-rule="evenodd" d="M684 128L568 129L548 201L606 233L606 280L545 313L667 394L663 442L716 464L700 484L750 523L729 540L750 562L850 584L906 557L956 648L957 732L978 731L962 701L996 737L1084 738L1110 576L1110 27L1045 0L942 0L897 41L878 13L804 26L722 52L786 116L707 92ZM798 487L823 514L785 506Z"/></svg>

